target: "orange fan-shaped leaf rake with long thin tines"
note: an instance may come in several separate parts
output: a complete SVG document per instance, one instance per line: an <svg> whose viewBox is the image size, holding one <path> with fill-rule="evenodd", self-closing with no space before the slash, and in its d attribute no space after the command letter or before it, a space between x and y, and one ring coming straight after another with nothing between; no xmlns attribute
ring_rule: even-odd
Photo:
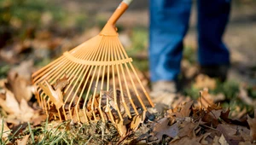
<svg viewBox="0 0 256 145"><path fill-rule="evenodd" d="M32 74L46 114L83 123L116 123L146 111L149 104L154 107L115 27L130 3L123 0L96 37Z"/></svg>

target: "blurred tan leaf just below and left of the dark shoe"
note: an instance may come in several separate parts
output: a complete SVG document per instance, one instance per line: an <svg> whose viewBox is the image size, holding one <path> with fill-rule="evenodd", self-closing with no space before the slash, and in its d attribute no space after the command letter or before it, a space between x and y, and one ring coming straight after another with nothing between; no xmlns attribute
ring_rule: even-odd
<svg viewBox="0 0 256 145"><path fill-rule="evenodd" d="M208 77L207 75L199 74L195 78L194 87L196 89L209 88L210 90L214 90L216 88L216 80Z"/></svg>

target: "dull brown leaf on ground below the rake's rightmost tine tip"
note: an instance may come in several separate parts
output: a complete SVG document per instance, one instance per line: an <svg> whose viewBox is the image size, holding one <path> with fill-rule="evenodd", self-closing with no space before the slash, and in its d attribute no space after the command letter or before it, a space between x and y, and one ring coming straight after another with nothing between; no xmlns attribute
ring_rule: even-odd
<svg viewBox="0 0 256 145"><path fill-rule="evenodd" d="M163 135L170 136L174 138L178 134L178 125L179 123L175 123L173 125L168 125L170 122L170 119L163 118L157 121L157 123L154 125L153 133L154 136L156 136L158 139L161 139Z"/></svg>

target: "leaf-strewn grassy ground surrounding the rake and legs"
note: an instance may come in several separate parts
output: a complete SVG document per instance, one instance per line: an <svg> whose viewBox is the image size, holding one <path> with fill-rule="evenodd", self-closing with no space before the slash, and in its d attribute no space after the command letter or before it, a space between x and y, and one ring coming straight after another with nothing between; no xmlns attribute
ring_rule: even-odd
<svg viewBox="0 0 256 145"><path fill-rule="evenodd" d="M183 74L179 77L182 87L172 107L166 107L164 112L148 108L148 113L132 116L125 125L113 125L110 121L82 125L46 118L36 102L31 74L64 51L96 36L118 4L119 0L0 2L0 10L4 12L0 14L1 143L255 143L256 3L253 0L232 2L224 34L231 54L226 82L197 74L196 1L193 1L190 28L184 40ZM143 74L140 78L150 86L148 1L131 3L117 26L120 41Z"/></svg>

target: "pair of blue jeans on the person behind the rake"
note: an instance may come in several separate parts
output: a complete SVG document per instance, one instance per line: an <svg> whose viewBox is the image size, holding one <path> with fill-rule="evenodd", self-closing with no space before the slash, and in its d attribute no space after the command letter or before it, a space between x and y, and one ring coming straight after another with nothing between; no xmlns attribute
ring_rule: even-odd
<svg viewBox="0 0 256 145"><path fill-rule="evenodd" d="M175 80L180 73L191 1L150 0L149 61L153 82ZM200 65L228 65L230 53L222 36L230 15L230 0L197 0L197 9Z"/></svg>

